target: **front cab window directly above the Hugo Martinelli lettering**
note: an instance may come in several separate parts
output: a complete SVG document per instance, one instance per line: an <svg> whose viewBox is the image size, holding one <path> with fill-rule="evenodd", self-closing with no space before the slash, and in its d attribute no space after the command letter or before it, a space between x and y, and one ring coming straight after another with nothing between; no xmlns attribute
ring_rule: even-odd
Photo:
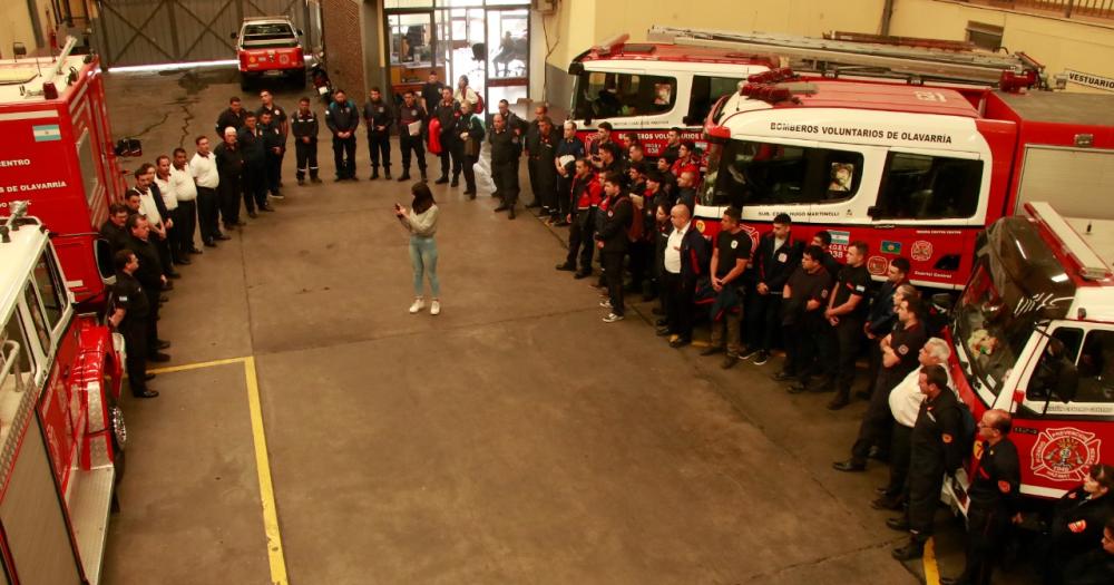
<svg viewBox="0 0 1114 585"><path fill-rule="evenodd" d="M807 205L854 196L862 154L775 143L730 140L709 153L704 205Z"/></svg>

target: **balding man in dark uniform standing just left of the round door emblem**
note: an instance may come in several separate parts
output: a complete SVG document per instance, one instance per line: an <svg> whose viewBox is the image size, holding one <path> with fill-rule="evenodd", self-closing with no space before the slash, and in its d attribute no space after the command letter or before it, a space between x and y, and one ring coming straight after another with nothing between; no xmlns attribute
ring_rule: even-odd
<svg viewBox="0 0 1114 585"><path fill-rule="evenodd" d="M1007 437L1012 427L1009 413L997 409L984 412L978 423L983 456L967 490L967 565L958 578L941 578L941 585L990 585L1022 485L1017 447Z"/></svg>

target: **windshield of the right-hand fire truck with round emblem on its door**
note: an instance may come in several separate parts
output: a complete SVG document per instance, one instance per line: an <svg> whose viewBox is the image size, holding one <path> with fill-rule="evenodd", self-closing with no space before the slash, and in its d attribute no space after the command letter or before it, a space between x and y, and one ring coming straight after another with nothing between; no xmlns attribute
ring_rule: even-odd
<svg viewBox="0 0 1114 585"><path fill-rule="evenodd" d="M971 382L997 393L1040 321L1063 319L1075 286L1025 217L1008 217L987 228L975 271L959 300L955 343Z"/></svg>

